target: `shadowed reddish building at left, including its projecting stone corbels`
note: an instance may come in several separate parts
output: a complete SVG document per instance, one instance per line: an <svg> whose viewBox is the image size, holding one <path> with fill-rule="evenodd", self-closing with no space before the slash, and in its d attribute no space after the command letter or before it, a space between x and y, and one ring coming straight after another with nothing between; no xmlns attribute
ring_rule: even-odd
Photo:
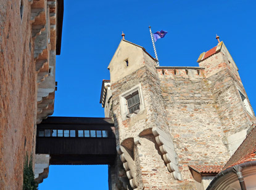
<svg viewBox="0 0 256 190"><path fill-rule="evenodd" d="M22 189L26 156L35 161L36 124L53 113L62 5L0 1L0 189Z"/></svg>

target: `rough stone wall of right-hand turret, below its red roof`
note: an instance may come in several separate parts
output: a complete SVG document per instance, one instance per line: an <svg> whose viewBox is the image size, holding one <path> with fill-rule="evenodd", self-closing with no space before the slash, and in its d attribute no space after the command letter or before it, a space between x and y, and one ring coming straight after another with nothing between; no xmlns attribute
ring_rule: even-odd
<svg viewBox="0 0 256 190"><path fill-rule="evenodd" d="M226 47L222 47L221 52L201 61L199 65L205 67L205 77L217 105L225 137L249 129L256 121L255 116L251 116L243 105L237 88L247 97L246 90Z"/></svg>

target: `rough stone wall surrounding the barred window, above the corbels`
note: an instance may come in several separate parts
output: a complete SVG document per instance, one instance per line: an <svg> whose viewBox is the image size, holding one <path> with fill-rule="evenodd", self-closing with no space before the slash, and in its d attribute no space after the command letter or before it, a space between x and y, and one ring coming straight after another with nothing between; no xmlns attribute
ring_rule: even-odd
<svg viewBox="0 0 256 190"><path fill-rule="evenodd" d="M146 67L142 67L130 76L112 84L115 127L117 127L116 130L119 135L117 145L119 145L120 142L122 143L126 138L138 137L139 133L143 130L153 128L156 125L165 130L164 126L167 122L165 122L163 117L165 115L164 109L162 109L164 105L162 102L157 101L160 99L161 93L159 80L157 80L156 77L157 76L153 75ZM123 121L119 95L137 84L142 85L145 109L137 116L127 118ZM159 114L160 111L163 111L162 114Z"/></svg>

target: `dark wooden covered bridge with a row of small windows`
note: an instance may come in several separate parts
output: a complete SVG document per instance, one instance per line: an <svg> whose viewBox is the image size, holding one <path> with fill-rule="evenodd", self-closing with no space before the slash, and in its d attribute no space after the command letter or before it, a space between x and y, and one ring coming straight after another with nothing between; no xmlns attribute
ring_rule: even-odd
<svg viewBox="0 0 256 190"><path fill-rule="evenodd" d="M117 155L114 122L102 117L48 117L38 125L36 154L49 154L51 165L112 165Z"/></svg>

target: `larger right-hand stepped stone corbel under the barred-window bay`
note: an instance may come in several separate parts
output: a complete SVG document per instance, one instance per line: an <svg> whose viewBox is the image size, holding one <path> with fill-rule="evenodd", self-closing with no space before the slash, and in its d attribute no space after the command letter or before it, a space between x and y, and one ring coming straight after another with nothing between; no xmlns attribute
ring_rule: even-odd
<svg viewBox="0 0 256 190"><path fill-rule="evenodd" d="M163 132L163 130L160 130L157 127L152 129L152 133L155 137L155 141L159 145L160 152L162 153L163 160L167 165L168 171L172 173L175 180L182 180L181 173L178 169L177 153L170 134Z"/></svg>

